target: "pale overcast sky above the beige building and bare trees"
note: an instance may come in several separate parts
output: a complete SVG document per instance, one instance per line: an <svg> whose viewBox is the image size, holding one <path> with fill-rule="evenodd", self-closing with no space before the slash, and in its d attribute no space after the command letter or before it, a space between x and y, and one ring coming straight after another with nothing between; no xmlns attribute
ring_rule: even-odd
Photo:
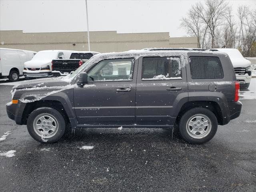
<svg viewBox="0 0 256 192"><path fill-rule="evenodd" d="M180 19L198 1L88 0L90 31L118 33L170 32L186 36ZM256 7L256 0L228 1L234 14L239 5ZM24 32L86 31L85 1L1 0L0 29Z"/></svg>

